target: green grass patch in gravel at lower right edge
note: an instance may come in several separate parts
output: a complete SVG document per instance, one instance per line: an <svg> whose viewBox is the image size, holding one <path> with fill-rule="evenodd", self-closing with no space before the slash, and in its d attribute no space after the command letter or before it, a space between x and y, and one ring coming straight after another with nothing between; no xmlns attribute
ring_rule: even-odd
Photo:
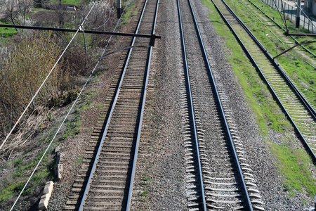
<svg viewBox="0 0 316 211"><path fill-rule="evenodd" d="M310 196L315 196L316 179L308 169L308 166L314 165L306 152L301 148L289 148L285 143L280 145L271 143L270 147L279 160L279 172L285 177L284 190L289 192L289 196L294 196L295 191L304 190Z"/></svg>

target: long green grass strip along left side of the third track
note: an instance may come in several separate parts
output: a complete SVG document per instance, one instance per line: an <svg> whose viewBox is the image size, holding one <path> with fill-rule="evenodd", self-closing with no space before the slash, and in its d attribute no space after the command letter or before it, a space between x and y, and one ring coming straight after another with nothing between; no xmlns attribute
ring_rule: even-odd
<svg viewBox="0 0 316 211"><path fill-rule="evenodd" d="M286 131L291 127L291 124L287 121L287 117L281 113L277 103L268 94L270 92L268 87L263 84L261 77L251 65L249 59L246 58L242 48L236 45L235 37L228 33L228 27L223 23L213 4L207 0L202 0L202 2L211 9L209 18L217 34L225 39L224 49L229 63L239 79L239 84L242 86L249 106L256 115L256 122L261 129L261 133L268 134L268 127L277 132Z"/></svg>

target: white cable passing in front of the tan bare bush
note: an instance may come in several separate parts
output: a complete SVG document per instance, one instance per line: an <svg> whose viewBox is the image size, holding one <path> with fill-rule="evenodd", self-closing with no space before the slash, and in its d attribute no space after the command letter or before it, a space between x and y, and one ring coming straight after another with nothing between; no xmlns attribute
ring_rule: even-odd
<svg viewBox="0 0 316 211"><path fill-rule="evenodd" d="M93 4L94 6L95 4ZM93 6L91 7L91 10L93 8ZM88 12L88 15L91 13L91 10ZM88 18L88 15L86 15L86 18ZM31 101L29 101L29 104L27 105L27 107L25 108L25 110L22 112L22 114L20 115L20 117L18 118L18 121L15 122L13 128L11 129L11 131L8 133L8 135L6 136L6 139L4 139L4 142L1 143L0 146L0 151L1 148L4 146L4 143L6 143L6 141L8 141L9 136L11 136L13 130L15 129L15 127L18 125L18 123L20 122L20 120L22 119L22 117L25 115L27 109L29 108L29 106L31 106L32 102L34 101L34 99L36 98L37 94L39 94L39 91L41 90L41 88L44 86L46 80L48 79L48 77L51 75L51 73L53 72L53 70L55 69L55 67L57 66L57 64L59 63L60 59L62 58L62 56L65 54L66 50L68 49L68 47L70 46L70 44L72 43L72 41L74 40L74 37L76 37L76 35L78 34L79 30L81 29L81 26L84 25L84 23L86 22L86 18L84 18L84 21L81 23L81 25L79 26L78 30L76 33L74 33L74 36L72 37L72 39L70 40L69 44L67 44L66 48L64 49L64 51L62 51L62 54L60 55L60 57L58 58L58 60L56 61L55 65L53 66L53 68L51 68L51 71L48 73L48 75L46 76L46 78L44 79L44 81L42 82L41 86L39 87L39 89L37 89L37 92L34 94L34 96L32 97Z"/></svg>

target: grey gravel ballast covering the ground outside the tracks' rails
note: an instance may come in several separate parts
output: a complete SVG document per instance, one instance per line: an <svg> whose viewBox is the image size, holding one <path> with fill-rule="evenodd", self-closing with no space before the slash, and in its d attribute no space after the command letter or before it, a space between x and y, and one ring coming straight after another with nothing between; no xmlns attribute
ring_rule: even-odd
<svg viewBox="0 0 316 211"><path fill-rule="evenodd" d="M290 197L284 191L284 178L277 170L277 159L270 153L268 142L281 143L291 139L294 147L303 148L296 135L269 132L268 137L259 134L254 114L249 108L238 79L234 75L223 50L223 39L210 23L208 10L200 1L192 1L202 38L209 57L216 66L218 89L228 97L228 109L232 111L235 124L266 210L303 210L312 207L310 196L295 193ZM197 12L198 11L198 12ZM183 72L178 13L176 1L159 3L159 16L155 34L162 36L156 41L150 70L150 89L145 103L143 129L133 186L131 210L187 210L185 195L185 147L181 118L181 74ZM107 81L110 82L110 81ZM86 117L88 119L88 113ZM94 118L96 119L96 117ZM93 123L93 119L88 124ZM86 126L86 131L91 129ZM65 177L56 184L48 210L59 210L65 203L66 194L71 188L72 177L79 165L71 163L83 154L85 140L82 135L79 143L62 146L72 158ZM87 142L87 141L86 141ZM68 157L67 157L68 158ZM311 167L315 172L315 167ZM64 193L65 192L65 193ZM307 203L303 204L303 200Z"/></svg>

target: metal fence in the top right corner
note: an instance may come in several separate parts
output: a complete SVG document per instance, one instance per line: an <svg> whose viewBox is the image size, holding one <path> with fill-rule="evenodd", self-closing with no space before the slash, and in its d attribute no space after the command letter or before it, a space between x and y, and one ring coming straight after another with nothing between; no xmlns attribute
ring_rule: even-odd
<svg viewBox="0 0 316 211"><path fill-rule="evenodd" d="M282 0L261 0L265 4L268 4L271 8L274 8L275 10L282 11ZM291 6L287 4L287 2L284 1L283 4L284 11L286 18L289 20L293 21L294 23L296 22L296 6ZM305 14L301 13L301 18L300 18L300 25L303 27L303 29L308 30L309 32L316 32L316 21L314 20L314 24L312 23L312 20L309 18L306 18Z"/></svg>

